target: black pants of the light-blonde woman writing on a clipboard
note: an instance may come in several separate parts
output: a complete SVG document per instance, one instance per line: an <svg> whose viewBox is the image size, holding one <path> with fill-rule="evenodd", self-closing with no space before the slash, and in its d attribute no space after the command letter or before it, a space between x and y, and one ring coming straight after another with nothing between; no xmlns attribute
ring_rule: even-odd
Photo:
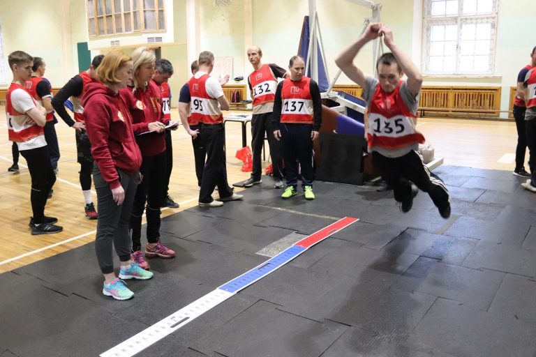
<svg viewBox="0 0 536 357"><path fill-rule="evenodd" d="M147 218L147 241L157 243L160 239L160 206L165 192L167 153L143 156L140 173L142 183L137 186L131 214L131 249L133 252L142 247L142 215ZM145 203L147 202L147 208Z"/></svg>

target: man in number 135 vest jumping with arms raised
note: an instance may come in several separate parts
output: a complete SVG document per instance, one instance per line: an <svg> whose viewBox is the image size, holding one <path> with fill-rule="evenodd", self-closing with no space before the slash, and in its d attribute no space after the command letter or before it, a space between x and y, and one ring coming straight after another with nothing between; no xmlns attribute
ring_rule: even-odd
<svg viewBox="0 0 536 357"><path fill-rule="evenodd" d="M376 63L378 79L364 75L353 59L357 52L375 38L383 36L391 50ZM393 33L380 23L369 24L366 31L335 60L348 78L363 89L368 108L365 135L373 164L394 188L394 199L401 211L410 211L419 189L428 192L442 218L450 216L449 192L435 174L431 174L417 153L424 136L415 130L422 75L393 40ZM402 80L403 75L407 80Z"/></svg>

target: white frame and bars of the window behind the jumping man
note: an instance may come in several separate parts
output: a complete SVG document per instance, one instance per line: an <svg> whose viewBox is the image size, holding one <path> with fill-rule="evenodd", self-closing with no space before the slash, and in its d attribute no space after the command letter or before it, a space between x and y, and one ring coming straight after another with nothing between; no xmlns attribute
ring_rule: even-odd
<svg viewBox="0 0 536 357"><path fill-rule="evenodd" d="M493 75L495 70L495 59L496 59L496 43L497 43L497 25L498 25L498 6L499 0L491 0L491 12L480 13L480 14L469 14L463 15L463 2L470 0L457 0L458 1L458 13L456 15L444 15L444 16L433 16L431 15L432 3L437 1L447 1L447 0L423 0L423 22L422 22L422 56L421 56L421 68L424 75L430 76L488 76ZM461 57L462 57L462 26L465 24L482 24L489 23L491 24L491 39L489 40L489 62L488 70L486 71L477 71L475 70L475 57L478 54L472 54L473 69L472 70L462 70L461 69ZM432 26L438 25L456 25L456 63L454 70L449 71L436 71L430 70L430 59L431 59L431 29ZM475 33L475 41L477 40ZM443 42L447 42L443 40ZM445 54L443 55L445 57ZM445 64L443 64L443 69Z"/></svg>

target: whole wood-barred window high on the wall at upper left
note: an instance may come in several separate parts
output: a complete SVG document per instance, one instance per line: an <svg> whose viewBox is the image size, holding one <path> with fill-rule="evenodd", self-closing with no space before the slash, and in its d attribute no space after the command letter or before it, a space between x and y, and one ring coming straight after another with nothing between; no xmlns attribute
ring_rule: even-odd
<svg viewBox="0 0 536 357"><path fill-rule="evenodd" d="M164 0L86 0L90 37L165 31Z"/></svg>

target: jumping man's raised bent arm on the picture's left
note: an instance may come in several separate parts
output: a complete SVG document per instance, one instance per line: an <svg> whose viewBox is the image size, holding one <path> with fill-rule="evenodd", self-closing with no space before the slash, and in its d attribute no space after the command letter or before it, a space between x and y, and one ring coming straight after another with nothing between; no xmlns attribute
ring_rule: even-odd
<svg viewBox="0 0 536 357"><path fill-rule="evenodd" d="M348 78L352 79L352 81L359 84L362 88L366 86L365 75L361 69L355 66L354 59L366 43L380 36L380 29L382 29L382 24L379 22L369 24L362 36L355 43L352 43L350 47L343 50L335 59L337 67L341 68Z"/></svg>

